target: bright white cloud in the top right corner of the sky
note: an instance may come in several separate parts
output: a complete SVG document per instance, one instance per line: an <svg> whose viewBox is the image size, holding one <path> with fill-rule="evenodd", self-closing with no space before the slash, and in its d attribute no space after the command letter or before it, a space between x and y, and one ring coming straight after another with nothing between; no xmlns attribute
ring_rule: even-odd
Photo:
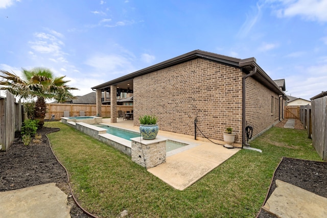
<svg viewBox="0 0 327 218"><path fill-rule="evenodd" d="M327 1L325 0L277 0L269 2L282 3L275 13L279 17L301 16L306 20L327 21Z"/></svg>

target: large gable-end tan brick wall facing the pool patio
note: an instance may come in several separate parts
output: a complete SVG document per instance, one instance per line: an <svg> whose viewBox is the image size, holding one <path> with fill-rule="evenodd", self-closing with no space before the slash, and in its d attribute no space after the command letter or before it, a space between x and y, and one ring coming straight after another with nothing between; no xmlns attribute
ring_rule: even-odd
<svg viewBox="0 0 327 218"><path fill-rule="evenodd" d="M154 114L160 130L194 135L194 119L205 136L223 140L232 127L242 142L242 72L195 59L134 78L134 125ZM269 98L270 99L270 98ZM197 137L203 137L197 130Z"/></svg>

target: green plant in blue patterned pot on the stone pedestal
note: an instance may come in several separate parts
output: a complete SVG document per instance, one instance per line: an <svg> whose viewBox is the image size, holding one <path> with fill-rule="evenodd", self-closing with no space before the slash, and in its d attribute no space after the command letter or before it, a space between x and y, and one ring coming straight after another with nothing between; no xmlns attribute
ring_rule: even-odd
<svg viewBox="0 0 327 218"><path fill-rule="evenodd" d="M138 118L140 124L139 132L143 139L155 139L159 131L157 119L154 115L143 115Z"/></svg>

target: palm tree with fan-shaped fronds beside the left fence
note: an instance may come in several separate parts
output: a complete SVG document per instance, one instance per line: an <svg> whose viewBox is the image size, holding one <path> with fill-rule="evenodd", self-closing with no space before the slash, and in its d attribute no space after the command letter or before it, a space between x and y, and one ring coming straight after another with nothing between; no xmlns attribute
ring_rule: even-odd
<svg viewBox="0 0 327 218"><path fill-rule="evenodd" d="M51 69L46 67L34 67L30 70L22 69L21 78L5 70L0 70L0 90L8 90L20 99L34 99L35 118L39 119L39 125L43 126L46 112L46 99L74 98L69 90L78 90L66 85L67 80L63 77L55 77Z"/></svg>

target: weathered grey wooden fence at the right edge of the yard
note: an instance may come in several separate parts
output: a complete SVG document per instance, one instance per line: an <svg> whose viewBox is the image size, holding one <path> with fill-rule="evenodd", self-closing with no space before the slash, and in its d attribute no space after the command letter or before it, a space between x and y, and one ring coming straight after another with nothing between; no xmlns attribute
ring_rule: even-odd
<svg viewBox="0 0 327 218"><path fill-rule="evenodd" d="M327 161L327 96L313 99L311 101L311 111L312 144L319 156ZM307 113L310 116L310 112ZM307 121L303 117L302 122L310 123L308 117Z"/></svg>

